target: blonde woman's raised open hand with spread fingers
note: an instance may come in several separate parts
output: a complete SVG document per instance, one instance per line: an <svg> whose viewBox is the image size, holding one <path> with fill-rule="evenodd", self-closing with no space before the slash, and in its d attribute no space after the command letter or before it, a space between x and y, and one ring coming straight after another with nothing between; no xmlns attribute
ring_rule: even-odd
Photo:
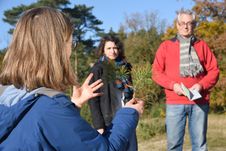
<svg viewBox="0 0 226 151"><path fill-rule="evenodd" d="M73 94L71 96L71 101L75 103L75 105L79 108L81 108L82 105L86 103L89 99L102 95L102 93L95 93L96 90L103 86L102 80L99 79L89 85L89 82L92 77L93 74L89 74L83 85L79 88L73 86Z"/></svg>

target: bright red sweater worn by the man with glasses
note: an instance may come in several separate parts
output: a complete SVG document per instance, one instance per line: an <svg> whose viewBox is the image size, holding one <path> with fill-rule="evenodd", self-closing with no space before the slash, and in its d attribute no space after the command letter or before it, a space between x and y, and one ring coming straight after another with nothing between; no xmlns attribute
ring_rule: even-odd
<svg viewBox="0 0 226 151"><path fill-rule="evenodd" d="M193 47L204 68L204 72L197 77L180 76L180 45L176 38L164 41L156 52L152 65L152 79L165 88L167 104L204 104L209 102L209 89L216 84L219 77L217 60L204 41L197 40ZM201 84L203 87L202 98L189 101L187 97L177 95L173 91L173 85L181 82L188 88L196 83Z"/></svg>

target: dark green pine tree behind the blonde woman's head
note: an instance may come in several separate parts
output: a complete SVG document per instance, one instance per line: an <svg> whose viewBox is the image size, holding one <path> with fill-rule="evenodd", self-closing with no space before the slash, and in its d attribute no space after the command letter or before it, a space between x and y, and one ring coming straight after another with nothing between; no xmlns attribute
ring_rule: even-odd
<svg viewBox="0 0 226 151"><path fill-rule="evenodd" d="M94 43L96 41L93 37L102 31L102 29L99 28L99 25L101 25L102 22L92 14L93 7L74 5L71 8L69 7L69 4L69 0L39 0L28 6L20 5L5 11L5 18L3 20L14 27L23 11L40 6L49 6L64 12L74 24L75 30L73 33L73 41L76 43L77 47L76 51L73 49L72 58L74 58L73 61L76 73L83 73L81 74L82 76L84 75L84 72L87 70L86 68L88 66L88 62L84 60L87 60L88 55L91 54L91 51L94 49ZM9 33L12 34L12 32L13 28L10 29ZM79 58L79 61L77 58ZM84 64L80 64L80 62ZM78 69L80 72L77 72Z"/></svg>

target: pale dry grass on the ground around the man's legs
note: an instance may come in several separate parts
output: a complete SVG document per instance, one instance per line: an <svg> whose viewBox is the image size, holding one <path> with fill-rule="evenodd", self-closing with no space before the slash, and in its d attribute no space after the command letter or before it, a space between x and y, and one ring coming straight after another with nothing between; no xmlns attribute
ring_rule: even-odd
<svg viewBox="0 0 226 151"><path fill-rule="evenodd" d="M207 141L209 151L226 151L226 115L209 115ZM139 151L166 151L165 134L156 135L146 141L139 139L138 134L138 142ZM187 129L184 140L184 151L191 151Z"/></svg>

